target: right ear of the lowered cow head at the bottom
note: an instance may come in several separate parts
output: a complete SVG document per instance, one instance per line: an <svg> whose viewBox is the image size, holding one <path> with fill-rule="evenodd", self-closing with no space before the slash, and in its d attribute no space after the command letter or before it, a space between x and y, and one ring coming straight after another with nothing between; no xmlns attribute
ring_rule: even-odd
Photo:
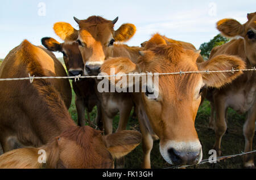
<svg viewBox="0 0 256 180"><path fill-rule="evenodd" d="M141 143L141 138L140 132L125 130L104 136L104 141L113 158L120 158L133 151Z"/></svg>

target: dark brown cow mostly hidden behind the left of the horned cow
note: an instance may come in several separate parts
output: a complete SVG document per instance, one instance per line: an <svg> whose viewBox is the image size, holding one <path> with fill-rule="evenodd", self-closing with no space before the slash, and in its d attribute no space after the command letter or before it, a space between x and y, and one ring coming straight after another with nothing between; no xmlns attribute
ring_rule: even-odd
<svg viewBox="0 0 256 180"><path fill-rule="evenodd" d="M52 52L63 53L63 59L65 66L67 67L69 76L83 75L84 73L84 62L82 61L82 55L79 50L79 44L73 42L73 44L65 44L56 41L51 37L42 38L42 44ZM101 110L100 101L95 93L95 81L93 79L80 79L72 81L73 90L76 93L76 110L77 110L77 124L79 126L85 125L85 108L88 116L88 123L93 126L90 122L89 113L92 112L93 107L97 105L97 125L101 128Z"/></svg>

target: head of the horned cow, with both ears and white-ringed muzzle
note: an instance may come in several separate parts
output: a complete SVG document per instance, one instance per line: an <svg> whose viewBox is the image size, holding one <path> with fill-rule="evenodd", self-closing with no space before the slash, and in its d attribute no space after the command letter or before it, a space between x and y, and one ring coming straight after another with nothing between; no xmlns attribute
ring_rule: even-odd
<svg viewBox="0 0 256 180"><path fill-rule="evenodd" d="M113 56L114 42L128 41L136 31L133 24L122 24L114 31L118 18L106 20L100 16L90 16L85 20L74 19L79 24L79 31L63 22L55 23L53 29L65 43L79 43L85 75L98 75L105 59Z"/></svg>

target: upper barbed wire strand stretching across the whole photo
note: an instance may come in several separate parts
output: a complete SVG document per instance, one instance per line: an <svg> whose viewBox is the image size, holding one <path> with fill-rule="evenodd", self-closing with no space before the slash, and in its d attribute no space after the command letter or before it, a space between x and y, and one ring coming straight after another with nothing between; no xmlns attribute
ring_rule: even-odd
<svg viewBox="0 0 256 180"><path fill-rule="evenodd" d="M0 81L10 81L10 80L30 80L30 83L33 82L34 79L75 79L79 80L82 78L110 78L110 77L122 77L122 76L142 76L142 75L184 75L184 74L193 74L193 73L218 73L218 72L236 72L236 71L256 71L255 67L252 68L247 68L247 69L238 69L235 70L232 67L232 70L220 70L220 71L179 71L179 72L163 72L163 73L152 73L152 72L146 72L146 73L140 73L140 74L114 74L114 75L97 75L97 76L81 76L81 75L77 75L77 76L31 76L28 73L28 77L24 77L24 78L1 78Z"/></svg>

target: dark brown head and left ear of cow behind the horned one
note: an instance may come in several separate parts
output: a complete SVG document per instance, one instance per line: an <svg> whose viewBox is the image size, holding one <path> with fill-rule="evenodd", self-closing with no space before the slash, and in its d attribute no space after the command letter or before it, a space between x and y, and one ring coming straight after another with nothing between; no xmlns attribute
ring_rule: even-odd
<svg viewBox="0 0 256 180"><path fill-rule="evenodd" d="M63 53L63 59L69 76L83 75L84 62L82 61L82 55L77 42L65 44L51 37L44 37L41 41L48 50Z"/></svg>

